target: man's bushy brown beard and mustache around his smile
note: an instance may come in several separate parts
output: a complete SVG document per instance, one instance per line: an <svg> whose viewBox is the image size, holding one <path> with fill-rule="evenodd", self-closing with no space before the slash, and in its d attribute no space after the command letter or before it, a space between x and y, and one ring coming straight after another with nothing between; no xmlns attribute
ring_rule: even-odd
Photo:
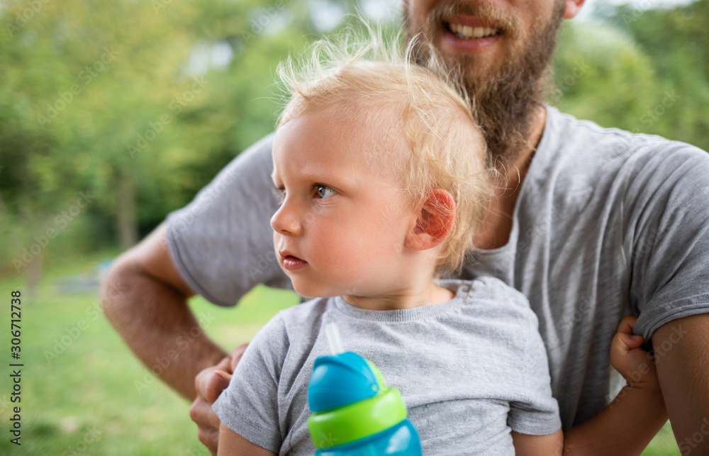
<svg viewBox="0 0 709 456"><path fill-rule="evenodd" d="M416 62L425 65L433 48L427 43L442 40L442 23L458 15L476 16L504 30L501 40L508 40L509 55L497 67L476 66L476 55L458 52L455 57L440 56L472 101L472 110L481 126L488 145L490 165L506 169L518 155L534 148L530 133L535 116L544 104L545 86L550 84L550 72L557 31L562 22L564 1L556 1L547 23L535 24L524 36L518 18L498 11L489 4L469 4L453 0L442 2L430 11L422 30L412 30L411 19L404 11L406 42L416 33L413 47ZM520 39L520 37L522 37Z"/></svg>

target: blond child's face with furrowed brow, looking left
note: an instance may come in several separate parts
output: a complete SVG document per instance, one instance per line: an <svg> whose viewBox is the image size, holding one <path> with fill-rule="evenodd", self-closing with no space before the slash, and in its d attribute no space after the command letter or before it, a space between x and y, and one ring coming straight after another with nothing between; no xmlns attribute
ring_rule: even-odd
<svg viewBox="0 0 709 456"><path fill-rule="evenodd" d="M368 123L354 131L326 109L277 132L273 178L284 200L271 219L274 246L302 296L378 296L406 277L405 240L417 217L383 169L396 156L373 155L386 136L382 122ZM386 153L396 154L394 146Z"/></svg>

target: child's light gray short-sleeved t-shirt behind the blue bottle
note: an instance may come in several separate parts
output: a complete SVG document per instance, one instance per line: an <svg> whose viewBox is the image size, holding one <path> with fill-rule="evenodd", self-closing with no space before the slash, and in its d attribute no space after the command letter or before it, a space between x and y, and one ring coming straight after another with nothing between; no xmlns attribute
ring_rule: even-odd
<svg viewBox="0 0 709 456"><path fill-rule="evenodd" d="M510 428L561 428L537 317L498 279L450 281L445 304L367 311L341 298L278 313L250 343L214 410L226 426L280 455L313 455L308 382L329 355L335 322L345 349L379 367L401 391L425 455L513 455ZM334 445L334 443L333 443Z"/></svg>

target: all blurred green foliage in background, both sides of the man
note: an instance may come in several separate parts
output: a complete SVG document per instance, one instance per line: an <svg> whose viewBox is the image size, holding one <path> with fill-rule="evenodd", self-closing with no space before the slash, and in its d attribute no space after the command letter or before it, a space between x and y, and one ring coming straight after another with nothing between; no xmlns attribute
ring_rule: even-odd
<svg viewBox="0 0 709 456"><path fill-rule="evenodd" d="M23 272L43 243L45 262L130 243L191 201L272 131L277 63L354 5L3 1L0 274ZM564 24L559 108L709 149L709 0L598 11L602 22Z"/></svg>

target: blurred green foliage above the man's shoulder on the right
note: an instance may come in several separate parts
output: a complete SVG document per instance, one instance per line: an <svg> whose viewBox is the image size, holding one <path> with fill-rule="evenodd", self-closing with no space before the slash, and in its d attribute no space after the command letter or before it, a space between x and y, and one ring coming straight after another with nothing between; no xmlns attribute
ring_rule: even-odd
<svg viewBox="0 0 709 456"><path fill-rule="evenodd" d="M596 22L566 23L559 37L559 109L709 150L709 0L595 11Z"/></svg>

